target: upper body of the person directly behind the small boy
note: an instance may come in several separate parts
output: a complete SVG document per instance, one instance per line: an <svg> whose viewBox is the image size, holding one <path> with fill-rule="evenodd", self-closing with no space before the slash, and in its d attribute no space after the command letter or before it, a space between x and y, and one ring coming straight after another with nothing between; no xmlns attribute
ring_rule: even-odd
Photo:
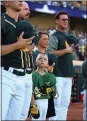
<svg viewBox="0 0 87 121"><path fill-rule="evenodd" d="M39 53L46 53L48 55L48 63L47 69L49 72L53 71L54 63L56 63L56 56L54 54L47 52L47 46L48 46L48 39L49 35L47 32L39 32L38 33L38 44L33 50L33 60L35 63L36 57ZM34 64L36 65L36 64ZM36 69L36 68L35 68Z"/></svg>

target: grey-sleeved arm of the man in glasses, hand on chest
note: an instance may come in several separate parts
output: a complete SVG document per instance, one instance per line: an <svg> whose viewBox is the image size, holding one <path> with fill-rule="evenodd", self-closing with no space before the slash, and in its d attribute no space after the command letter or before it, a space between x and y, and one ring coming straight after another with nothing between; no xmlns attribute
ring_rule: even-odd
<svg viewBox="0 0 87 121"><path fill-rule="evenodd" d="M67 47L62 50L57 50L58 48L58 40L54 36L49 36L49 44L48 44L48 51L52 54L55 54L56 56L63 56L66 53L72 53L73 49L72 47Z"/></svg>

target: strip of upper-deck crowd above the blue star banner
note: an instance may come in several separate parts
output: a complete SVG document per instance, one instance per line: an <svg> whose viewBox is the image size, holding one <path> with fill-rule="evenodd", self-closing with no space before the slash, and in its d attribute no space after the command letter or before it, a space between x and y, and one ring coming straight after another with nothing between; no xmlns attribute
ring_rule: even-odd
<svg viewBox="0 0 87 121"><path fill-rule="evenodd" d="M36 2L36 1L35 1ZM59 6L59 7L68 7L71 9L80 9L86 11L87 1L38 1L39 3L44 3L47 5Z"/></svg>

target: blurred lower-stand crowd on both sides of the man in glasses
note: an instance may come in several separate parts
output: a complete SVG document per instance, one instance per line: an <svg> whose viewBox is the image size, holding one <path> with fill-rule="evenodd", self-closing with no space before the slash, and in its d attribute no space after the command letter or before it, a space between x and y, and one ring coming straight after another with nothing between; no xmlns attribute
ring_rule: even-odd
<svg viewBox="0 0 87 121"><path fill-rule="evenodd" d="M50 33L55 29L55 27L48 27L47 29L40 29L38 25L35 26L35 29L37 32L43 31ZM78 39L79 39L79 46L75 47L73 52L73 59L74 60L81 60L83 61L85 59L84 57L84 50L85 46L87 45L87 33L83 33L82 31L79 31L77 29L74 29L73 31L70 30L70 33L73 33Z"/></svg>

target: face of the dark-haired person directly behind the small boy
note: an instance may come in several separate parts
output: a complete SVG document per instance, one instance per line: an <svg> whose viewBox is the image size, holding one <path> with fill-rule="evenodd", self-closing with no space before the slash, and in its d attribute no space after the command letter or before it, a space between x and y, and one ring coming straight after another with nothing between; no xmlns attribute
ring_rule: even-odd
<svg viewBox="0 0 87 121"><path fill-rule="evenodd" d="M42 34L41 38L38 42L38 44L42 47L42 48L47 48L48 46L48 35L46 34Z"/></svg>

